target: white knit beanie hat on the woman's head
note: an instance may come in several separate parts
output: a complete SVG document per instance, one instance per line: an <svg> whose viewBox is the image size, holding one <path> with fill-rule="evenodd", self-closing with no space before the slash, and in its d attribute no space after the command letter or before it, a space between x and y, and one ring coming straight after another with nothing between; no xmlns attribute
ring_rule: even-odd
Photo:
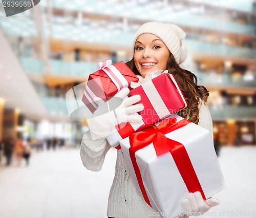
<svg viewBox="0 0 256 218"><path fill-rule="evenodd" d="M186 33L177 25L155 21L143 24L135 34L133 41L133 52L137 38L143 33L152 33L158 36L173 54L178 64L181 64L186 59L187 51L186 47L183 45L183 40Z"/></svg>

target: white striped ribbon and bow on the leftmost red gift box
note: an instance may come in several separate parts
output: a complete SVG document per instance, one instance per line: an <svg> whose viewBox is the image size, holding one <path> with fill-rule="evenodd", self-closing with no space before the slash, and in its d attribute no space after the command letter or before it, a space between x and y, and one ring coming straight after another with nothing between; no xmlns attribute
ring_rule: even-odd
<svg viewBox="0 0 256 218"><path fill-rule="evenodd" d="M116 69L115 66L112 65L112 60L104 60L97 63L96 70L103 70L106 73L106 75L109 76L109 78L115 84L117 92L129 86L124 76ZM84 96L86 96L86 98L89 100L89 102L95 109L98 108L98 105L93 100L97 96L91 91L88 85L86 85L86 89L84 90Z"/></svg>

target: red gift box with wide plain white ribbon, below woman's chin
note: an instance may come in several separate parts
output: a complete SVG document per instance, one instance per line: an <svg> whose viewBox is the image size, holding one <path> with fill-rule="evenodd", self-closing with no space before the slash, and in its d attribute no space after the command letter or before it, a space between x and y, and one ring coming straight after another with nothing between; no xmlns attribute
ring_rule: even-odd
<svg viewBox="0 0 256 218"><path fill-rule="evenodd" d="M146 126L181 111L187 106L178 83L172 74L168 74L168 71L146 81L130 93L132 96L140 95L141 97L138 103L142 103L144 109L139 114Z"/></svg>

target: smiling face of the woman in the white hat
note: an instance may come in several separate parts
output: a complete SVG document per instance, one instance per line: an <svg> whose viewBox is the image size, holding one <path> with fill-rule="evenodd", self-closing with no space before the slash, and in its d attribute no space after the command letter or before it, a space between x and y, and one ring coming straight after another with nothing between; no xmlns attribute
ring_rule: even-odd
<svg viewBox="0 0 256 218"><path fill-rule="evenodd" d="M140 75L167 69L167 60L170 56L163 41L154 34L141 34L134 48L134 63Z"/></svg>

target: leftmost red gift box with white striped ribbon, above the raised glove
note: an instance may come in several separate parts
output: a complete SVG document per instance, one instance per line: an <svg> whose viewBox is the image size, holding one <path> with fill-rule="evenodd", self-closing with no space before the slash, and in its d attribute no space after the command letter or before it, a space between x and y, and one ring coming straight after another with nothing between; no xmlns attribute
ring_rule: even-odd
<svg viewBox="0 0 256 218"><path fill-rule="evenodd" d="M131 90L131 81L139 81L138 77L123 61L113 65L111 63L111 60L98 63L97 71L89 75L86 89L82 96L82 102L92 113L98 107L93 101L95 97L99 97L104 101L109 100L124 87Z"/></svg>

